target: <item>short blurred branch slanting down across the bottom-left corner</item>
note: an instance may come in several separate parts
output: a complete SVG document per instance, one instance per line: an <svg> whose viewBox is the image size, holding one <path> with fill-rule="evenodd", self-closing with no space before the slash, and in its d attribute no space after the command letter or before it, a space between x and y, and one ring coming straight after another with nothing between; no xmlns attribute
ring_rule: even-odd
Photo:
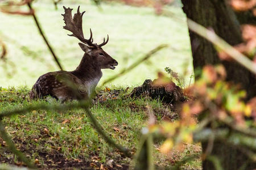
<svg viewBox="0 0 256 170"><path fill-rule="evenodd" d="M18 158L20 160L22 160L22 162L24 162L29 168L35 168L35 165L33 165L30 160L28 160L26 158L26 156L24 156L22 154L22 152L20 152L19 150L16 149L13 141L11 141L10 137L8 136L8 134L5 131L5 126L2 124L2 122L0 121L0 135L3 138L3 141L5 141L7 143L7 146L9 147L9 149L18 156Z"/></svg>

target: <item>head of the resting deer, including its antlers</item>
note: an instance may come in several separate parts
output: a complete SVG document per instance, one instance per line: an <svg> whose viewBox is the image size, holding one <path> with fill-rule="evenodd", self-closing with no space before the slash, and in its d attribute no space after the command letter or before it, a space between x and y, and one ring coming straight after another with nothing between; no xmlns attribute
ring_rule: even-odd
<svg viewBox="0 0 256 170"><path fill-rule="evenodd" d="M72 18L73 9L66 8L65 6L63 6L63 8L65 10L65 14L62 14L65 22L65 26L63 28L72 32L72 34L69 36L74 36L82 42L79 42L80 48L85 52L86 55L92 57L92 59L96 61L101 69L114 70L115 66L118 65L118 62L101 48L108 43L109 35L106 41L104 38L104 41L98 45L93 43L92 29L90 29L90 37L89 39L85 39L82 31L82 15L84 15L85 11L81 13L79 11L79 6L77 8L77 13Z"/></svg>

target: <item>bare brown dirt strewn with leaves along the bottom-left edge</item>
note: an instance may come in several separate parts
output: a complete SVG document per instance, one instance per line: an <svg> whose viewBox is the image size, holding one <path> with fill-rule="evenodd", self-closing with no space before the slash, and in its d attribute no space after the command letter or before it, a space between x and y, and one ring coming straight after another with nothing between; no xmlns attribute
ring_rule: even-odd
<svg viewBox="0 0 256 170"><path fill-rule="evenodd" d="M110 160L106 163L100 163L98 156L92 153L89 155L89 159L68 159L59 151L46 152L38 150L35 145L26 145L26 142L20 141L20 139L13 139L15 143L19 143L18 149L23 152L27 158L32 158L32 152L37 153L38 156L34 160L34 164L39 169L129 169L128 164L119 163L120 160ZM25 166L22 162L17 160L14 154L6 147L5 142L0 138L1 153L0 162L8 163L18 166ZM122 159L122 158L121 158ZM31 159L32 160L32 159Z"/></svg>

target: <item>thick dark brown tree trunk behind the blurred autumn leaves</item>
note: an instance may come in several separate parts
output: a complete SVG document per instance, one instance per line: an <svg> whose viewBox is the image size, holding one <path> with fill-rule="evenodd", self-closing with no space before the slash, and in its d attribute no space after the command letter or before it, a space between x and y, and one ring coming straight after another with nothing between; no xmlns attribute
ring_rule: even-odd
<svg viewBox="0 0 256 170"><path fill-rule="evenodd" d="M181 2L184 6L183 11L188 18L206 28L213 29L230 45L237 45L242 42L240 23L225 0L181 0ZM247 99L256 96L255 75L236 62L221 61L214 46L196 33L189 31L189 36L195 70L201 69L207 64L222 63L226 68L227 80L241 84L241 87L247 91ZM202 143L202 147L204 151L207 143ZM248 160L236 148L220 142L214 142L212 154L221 160L224 169L239 169ZM256 164L248 164L246 169L254 168L256 168ZM214 169L214 167L212 163L204 160L203 169Z"/></svg>

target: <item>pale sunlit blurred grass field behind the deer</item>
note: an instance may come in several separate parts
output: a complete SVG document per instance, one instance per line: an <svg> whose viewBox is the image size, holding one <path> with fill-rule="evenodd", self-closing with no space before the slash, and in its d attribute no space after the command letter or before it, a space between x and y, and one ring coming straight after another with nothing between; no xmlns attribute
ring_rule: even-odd
<svg viewBox="0 0 256 170"><path fill-rule="evenodd" d="M90 1L63 1L55 10L51 1L35 2L36 14L48 40L59 56L64 70L71 71L79 65L84 53L77 44L79 41L75 37L67 36L70 32L63 29L63 5L74 8L73 12L80 5L80 10L86 11L83 23L85 37L89 36L89 28L92 28L94 42L100 43L107 34L110 36L104 50L117 59L119 65L115 70L103 70L100 83L143 57L149 50L160 44L168 44L170 47L156 53L148 62L142 63L110 84L141 85L144 79L154 79L158 71L170 67L184 75L188 85L193 71L191 47L185 15L179 3L169 6L168 10L183 18L180 22L158 16L150 7L102 3L100 9ZM59 70L31 16L0 13L0 37L7 45L8 52L7 63L0 61L0 86L25 84L30 88L40 75Z"/></svg>

